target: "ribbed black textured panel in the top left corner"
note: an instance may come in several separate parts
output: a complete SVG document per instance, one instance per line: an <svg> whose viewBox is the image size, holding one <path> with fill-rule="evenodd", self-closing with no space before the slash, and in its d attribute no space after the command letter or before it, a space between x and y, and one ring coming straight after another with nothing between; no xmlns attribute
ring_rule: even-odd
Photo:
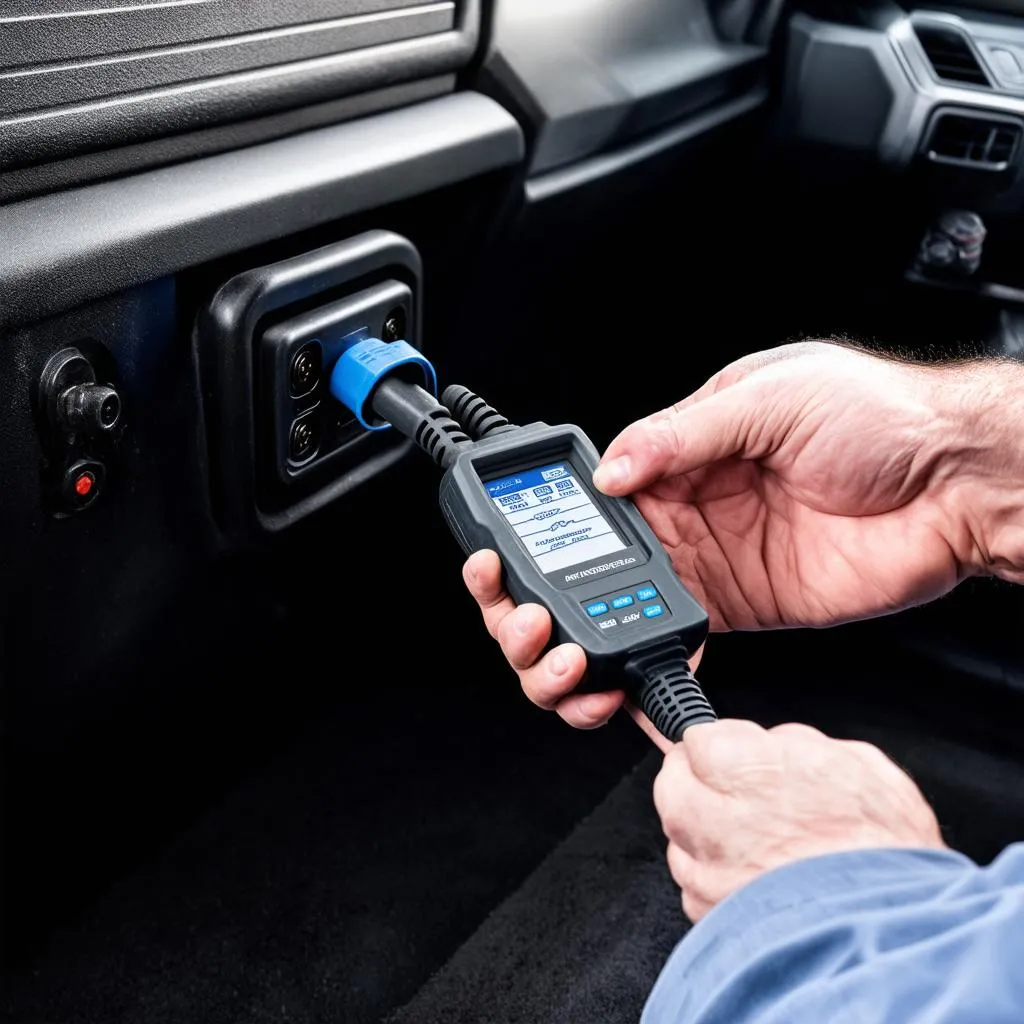
<svg viewBox="0 0 1024 1024"><path fill-rule="evenodd" d="M8 0L0 169L465 66L479 0Z"/></svg>

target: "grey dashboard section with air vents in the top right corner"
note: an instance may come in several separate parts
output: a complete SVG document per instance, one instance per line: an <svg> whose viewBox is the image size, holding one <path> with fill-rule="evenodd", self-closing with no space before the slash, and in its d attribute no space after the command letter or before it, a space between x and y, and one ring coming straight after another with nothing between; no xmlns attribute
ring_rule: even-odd
<svg viewBox="0 0 1024 1024"><path fill-rule="evenodd" d="M794 135L918 160L1020 187L1024 23L939 10L881 25L798 13L790 26L785 109Z"/></svg>

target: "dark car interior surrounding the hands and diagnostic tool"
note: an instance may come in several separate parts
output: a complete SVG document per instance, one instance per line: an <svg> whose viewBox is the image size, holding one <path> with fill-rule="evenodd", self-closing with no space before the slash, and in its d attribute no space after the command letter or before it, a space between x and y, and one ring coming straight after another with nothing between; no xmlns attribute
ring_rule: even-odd
<svg viewBox="0 0 1024 1024"><path fill-rule="evenodd" d="M404 341L598 449L793 340L1011 373L1022 138L1018 0L7 0L5 1018L636 1021L688 928L659 757L526 700L437 467L332 369ZM985 862L1022 608L699 677L878 743Z"/></svg>

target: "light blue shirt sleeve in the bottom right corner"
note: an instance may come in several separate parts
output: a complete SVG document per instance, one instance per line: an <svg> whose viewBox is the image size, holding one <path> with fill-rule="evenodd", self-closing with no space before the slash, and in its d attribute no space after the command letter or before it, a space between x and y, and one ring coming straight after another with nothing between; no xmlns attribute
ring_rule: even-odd
<svg viewBox="0 0 1024 1024"><path fill-rule="evenodd" d="M679 943L642 1024L1021 1024L1024 844L780 867Z"/></svg>

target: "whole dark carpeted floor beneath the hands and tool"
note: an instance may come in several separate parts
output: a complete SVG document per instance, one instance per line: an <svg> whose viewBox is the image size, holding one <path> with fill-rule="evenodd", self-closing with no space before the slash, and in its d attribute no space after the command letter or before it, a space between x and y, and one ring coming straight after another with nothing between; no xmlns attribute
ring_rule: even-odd
<svg viewBox="0 0 1024 1024"><path fill-rule="evenodd" d="M878 742L979 860L1024 837L1020 692L831 642L733 637L701 675L723 715ZM9 971L4 1019L635 1022L686 927L656 755L628 720L575 732L465 687L326 716Z"/></svg>

